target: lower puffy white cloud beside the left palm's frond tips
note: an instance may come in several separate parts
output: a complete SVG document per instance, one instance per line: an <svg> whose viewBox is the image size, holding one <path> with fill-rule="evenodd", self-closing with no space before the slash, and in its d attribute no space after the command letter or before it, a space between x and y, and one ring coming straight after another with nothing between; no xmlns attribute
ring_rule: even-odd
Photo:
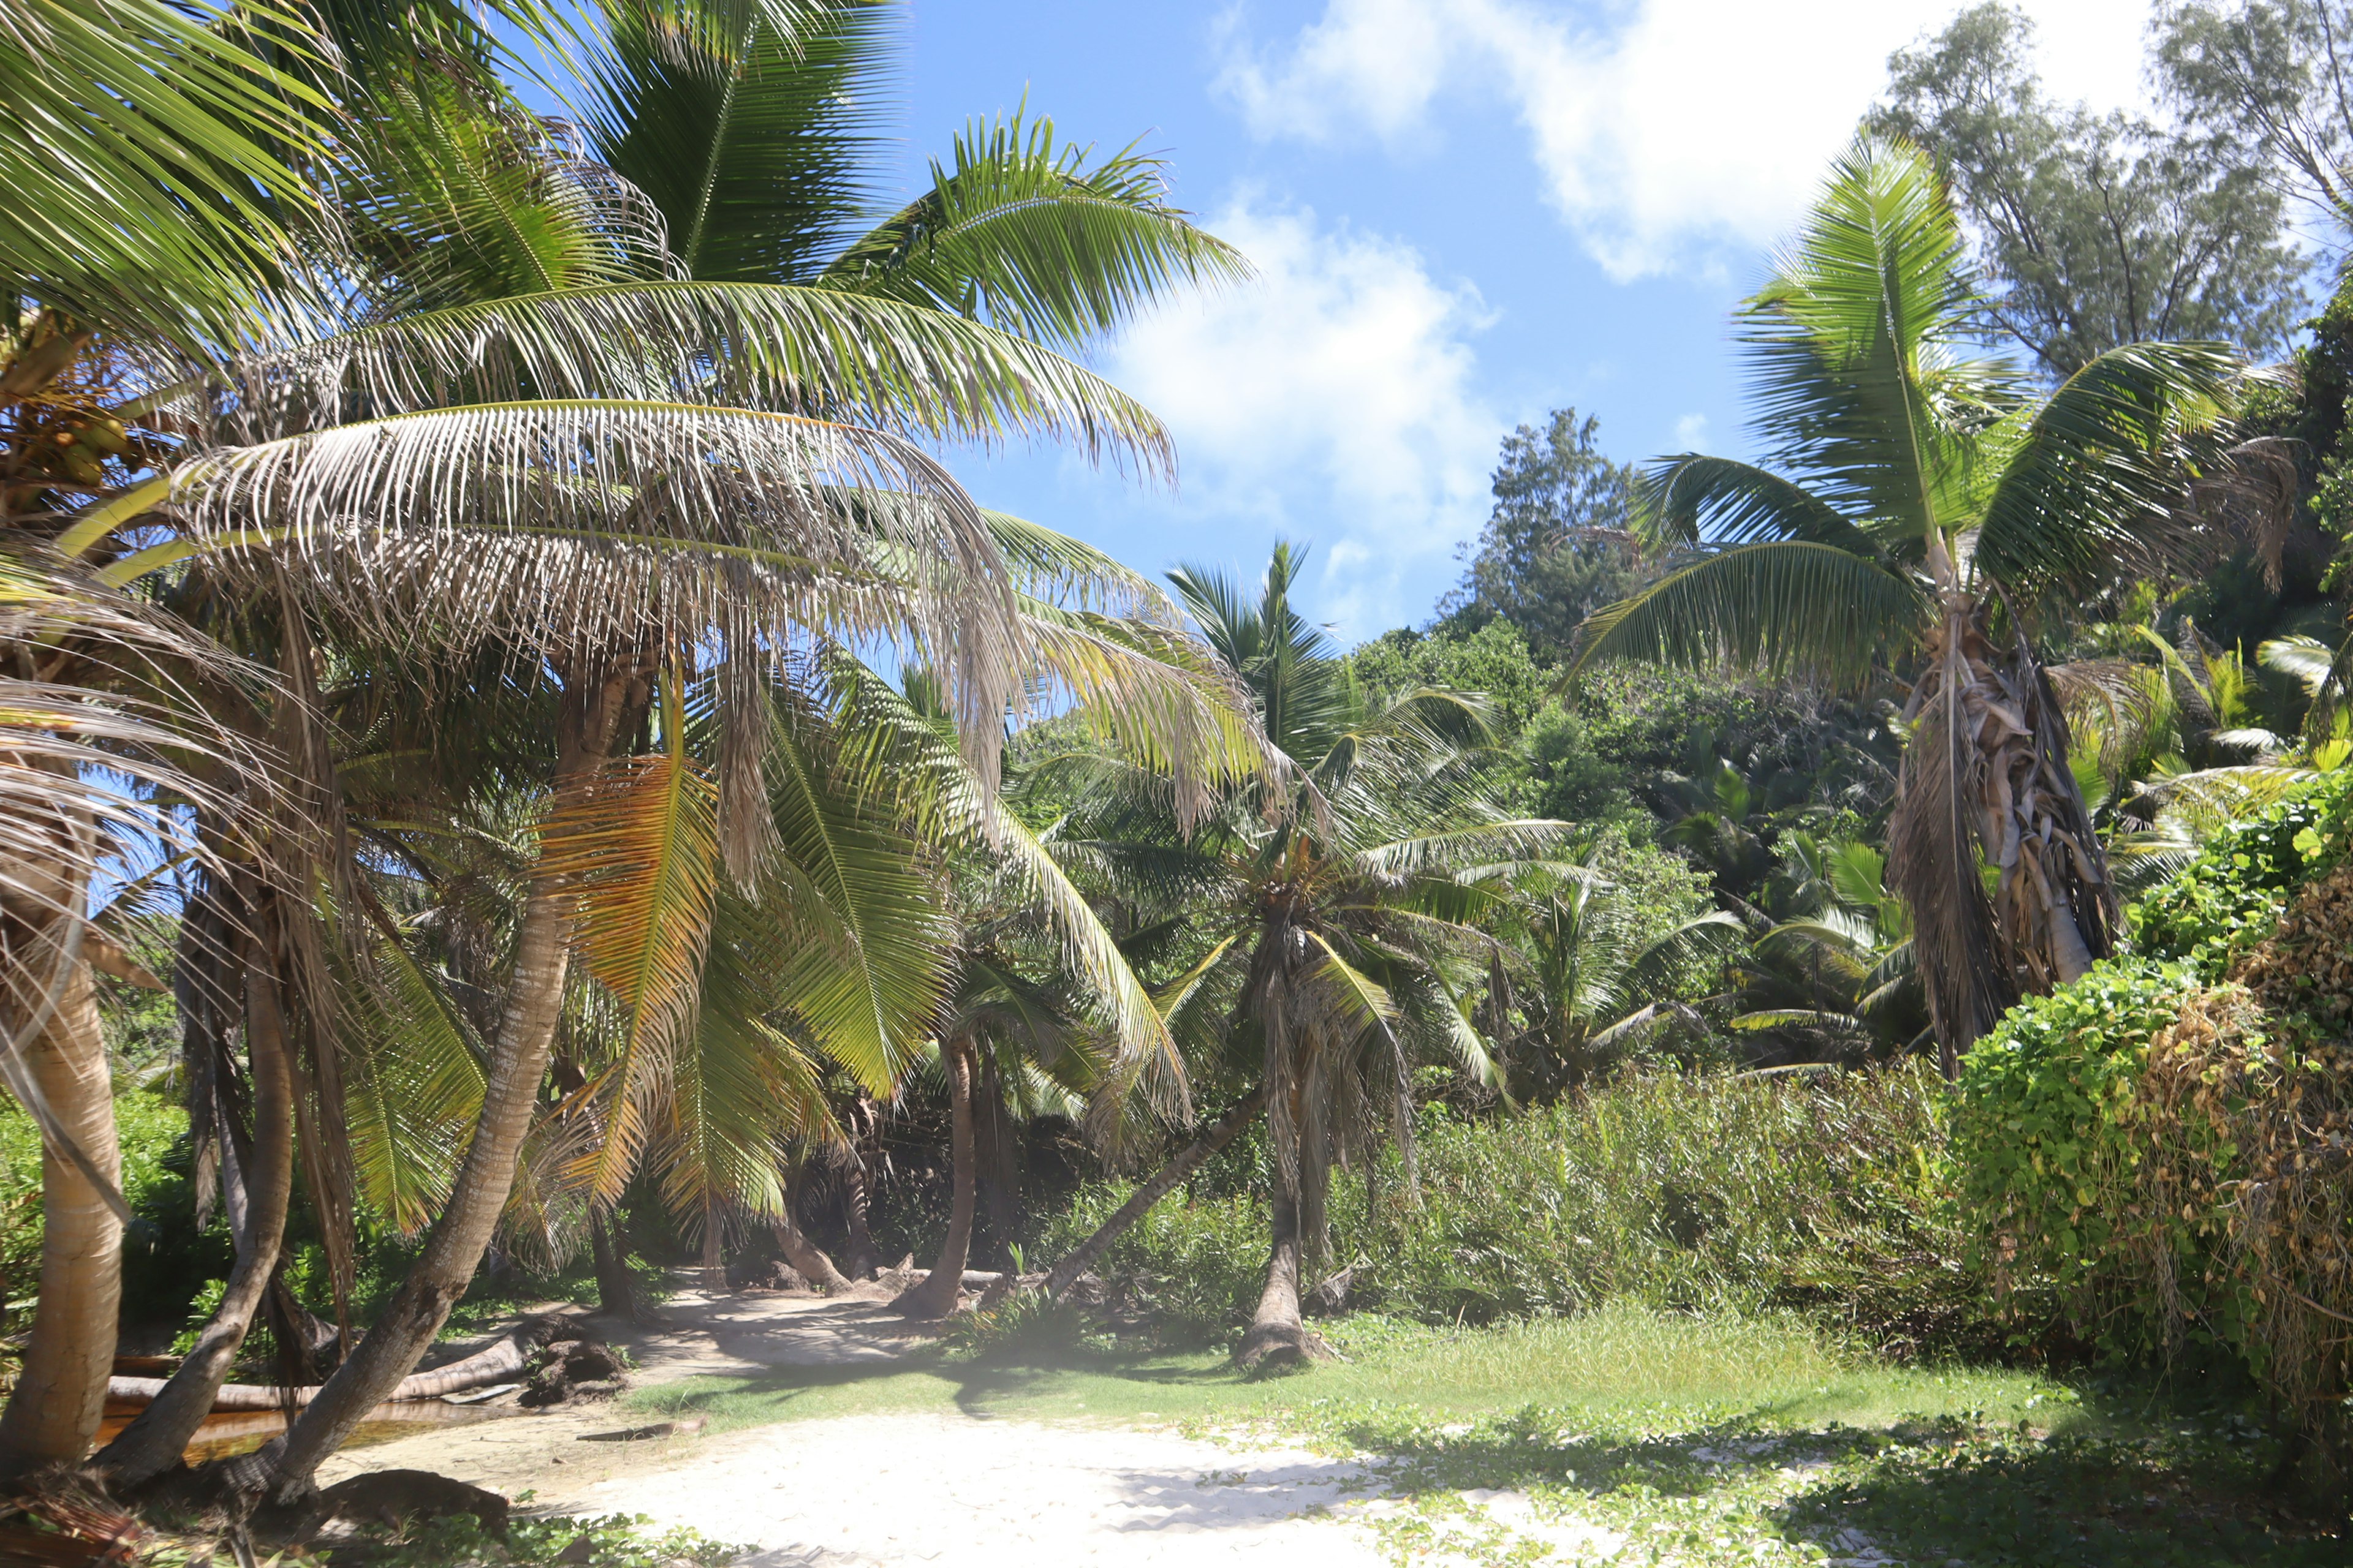
<svg viewBox="0 0 2353 1568"><path fill-rule="evenodd" d="M1259 277L1155 313L1106 364L1176 437L1174 515L1313 536L1318 604L1351 637L1419 614L1487 515L1508 425L1473 390L1487 306L1409 244L1306 209L1242 200L1209 228Z"/></svg>

